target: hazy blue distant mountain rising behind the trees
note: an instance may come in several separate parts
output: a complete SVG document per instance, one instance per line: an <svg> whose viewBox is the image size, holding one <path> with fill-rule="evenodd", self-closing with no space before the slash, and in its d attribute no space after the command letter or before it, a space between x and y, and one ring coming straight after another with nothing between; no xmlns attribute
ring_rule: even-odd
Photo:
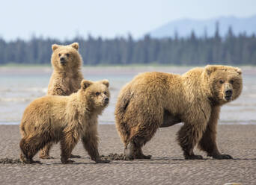
<svg viewBox="0 0 256 185"><path fill-rule="evenodd" d="M180 19L168 22L167 24L150 31L148 34L150 34L151 37L162 38L174 37L174 33L177 32L178 37L188 37L193 30L198 37L203 37L205 33L207 33L208 37L211 37L216 31L216 22L219 22L219 34L222 37L225 37L230 26L235 35L244 32L246 32L247 35L256 34L256 15L247 18L221 16L206 20Z"/></svg>

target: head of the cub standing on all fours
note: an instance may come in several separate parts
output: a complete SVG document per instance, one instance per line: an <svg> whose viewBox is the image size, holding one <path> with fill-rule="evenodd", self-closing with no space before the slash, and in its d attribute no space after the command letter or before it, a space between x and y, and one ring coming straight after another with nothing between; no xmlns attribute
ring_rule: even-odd
<svg viewBox="0 0 256 185"><path fill-rule="evenodd" d="M89 110L103 110L109 104L110 92L109 81L87 81L81 82L79 90L80 97L86 99Z"/></svg>

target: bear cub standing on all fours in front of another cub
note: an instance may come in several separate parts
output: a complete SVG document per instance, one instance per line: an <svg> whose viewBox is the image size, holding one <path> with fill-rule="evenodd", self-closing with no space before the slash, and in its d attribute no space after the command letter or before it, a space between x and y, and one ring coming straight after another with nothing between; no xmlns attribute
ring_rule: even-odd
<svg viewBox="0 0 256 185"><path fill-rule="evenodd" d="M82 81L81 89L69 96L46 95L26 107L20 124L20 160L34 163L37 151L49 142L61 142L61 162L68 160L81 137L92 160L101 160L98 152L97 117L109 104L109 81Z"/></svg>

